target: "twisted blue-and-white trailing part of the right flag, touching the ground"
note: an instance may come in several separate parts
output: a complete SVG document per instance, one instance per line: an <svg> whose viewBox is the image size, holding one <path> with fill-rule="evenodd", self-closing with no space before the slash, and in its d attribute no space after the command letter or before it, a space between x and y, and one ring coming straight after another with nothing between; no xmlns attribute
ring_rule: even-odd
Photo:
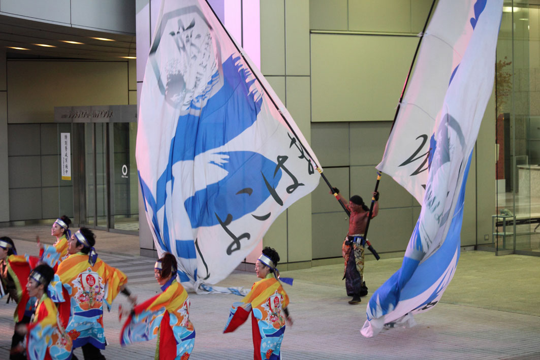
<svg viewBox="0 0 540 360"><path fill-rule="evenodd" d="M451 0L440 1L448 11ZM465 184L482 117L495 76L495 47L502 0L475 1L468 15L473 29L435 123L422 210L401 269L375 291L362 335L414 325L413 315L432 308L454 276L460 256ZM457 5L457 4L456 4ZM440 11L437 8L437 11ZM439 14L440 15L440 14ZM453 18L452 12L446 16ZM422 69L417 67L419 72ZM397 141L399 134L394 137Z"/></svg>

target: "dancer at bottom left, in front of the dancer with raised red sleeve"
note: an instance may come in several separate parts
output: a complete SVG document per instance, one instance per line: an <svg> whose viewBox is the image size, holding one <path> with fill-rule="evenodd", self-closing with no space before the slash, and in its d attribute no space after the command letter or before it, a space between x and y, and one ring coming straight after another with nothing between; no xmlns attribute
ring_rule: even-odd
<svg viewBox="0 0 540 360"><path fill-rule="evenodd" d="M20 352L26 348L30 360L56 359L57 354L71 353L71 338L66 334L64 325L69 317L69 307L56 307L56 302L63 302L62 284L57 282L55 271L46 264L40 264L32 270L26 283L30 297L36 297L36 311L30 324L19 324L15 331L25 336L25 344L19 344L12 351ZM52 297L52 298L51 298ZM59 315L59 310L65 314ZM61 319L64 319L62 321Z"/></svg>

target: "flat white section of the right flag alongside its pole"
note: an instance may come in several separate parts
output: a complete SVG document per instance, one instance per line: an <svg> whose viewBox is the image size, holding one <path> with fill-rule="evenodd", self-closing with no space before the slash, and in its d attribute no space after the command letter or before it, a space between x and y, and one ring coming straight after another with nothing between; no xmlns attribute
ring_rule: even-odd
<svg viewBox="0 0 540 360"><path fill-rule="evenodd" d="M474 0L443 0L437 4L407 84L400 111L377 169L392 176L422 204L428 179L432 134L440 121L450 79L473 35ZM485 3L485 1L484 1ZM478 5L476 5L478 4Z"/></svg>

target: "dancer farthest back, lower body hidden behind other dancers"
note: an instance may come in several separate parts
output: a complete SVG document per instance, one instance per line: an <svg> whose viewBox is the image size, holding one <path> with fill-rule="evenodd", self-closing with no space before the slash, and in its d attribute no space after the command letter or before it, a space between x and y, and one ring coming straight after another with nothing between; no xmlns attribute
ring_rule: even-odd
<svg viewBox="0 0 540 360"><path fill-rule="evenodd" d="M69 256L68 240L71 237L71 231L69 229L70 225L71 220L66 215L62 215L60 218L56 219L51 227L51 235L56 236L56 242L52 246L41 243L39 241L39 236L36 237L39 247L39 256L42 257L44 262L50 264L55 271L58 269L58 264Z"/></svg>

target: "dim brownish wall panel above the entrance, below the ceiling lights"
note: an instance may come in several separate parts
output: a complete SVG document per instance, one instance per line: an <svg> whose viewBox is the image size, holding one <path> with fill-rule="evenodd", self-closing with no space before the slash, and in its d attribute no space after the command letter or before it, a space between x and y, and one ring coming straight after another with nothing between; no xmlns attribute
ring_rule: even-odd
<svg viewBox="0 0 540 360"><path fill-rule="evenodd" d="M50 123L55 106L127 105L128 62L8 61L8 121Z"/></svg>

